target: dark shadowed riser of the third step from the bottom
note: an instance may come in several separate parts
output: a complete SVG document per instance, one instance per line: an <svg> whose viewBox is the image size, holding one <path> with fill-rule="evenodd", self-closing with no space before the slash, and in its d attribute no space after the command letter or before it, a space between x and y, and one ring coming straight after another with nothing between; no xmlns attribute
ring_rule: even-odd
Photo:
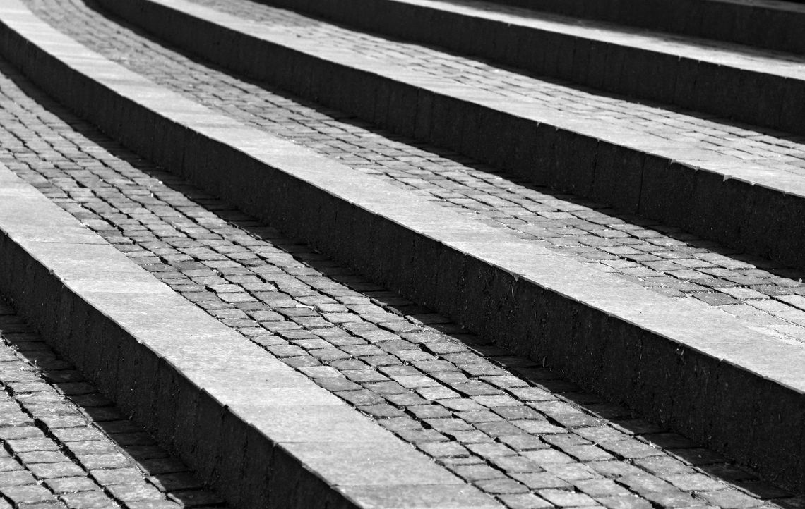
<svg viewBox="0 0 805 509"><path fill-rule="evenodd" d="M333 64L150 2L101 2L217 64L404 136L805 268L805 199L799 196L725 180L640 150Z"/></svg>

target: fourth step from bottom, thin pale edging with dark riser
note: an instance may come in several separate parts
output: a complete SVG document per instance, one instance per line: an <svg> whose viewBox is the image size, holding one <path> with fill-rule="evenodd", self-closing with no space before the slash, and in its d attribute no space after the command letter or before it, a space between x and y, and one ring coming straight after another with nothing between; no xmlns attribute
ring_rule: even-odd
<svg viewBox="0 0 805 509"><path fill-rule="evenodd" d="M250 14L255 5L221 0L192 3L213 6L245 19L252 19ZM332 18L361 30L479 55L605 92L805 134L802 111L789 110L805 97L805 56L580 23L576 18L546 16L528 10L502 10L482 2L272 0L270 3ZM134 8L110 0L101 4L120 14Z"/></svg>

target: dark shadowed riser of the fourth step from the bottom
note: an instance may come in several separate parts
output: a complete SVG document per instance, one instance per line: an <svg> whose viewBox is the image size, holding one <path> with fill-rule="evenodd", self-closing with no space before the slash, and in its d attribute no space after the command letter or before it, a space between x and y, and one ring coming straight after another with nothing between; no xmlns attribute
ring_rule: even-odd
<svg viewBox="0 0 805 509"><path fill-rule="evenodd" d="M799 80L398 2L262 2L367 31L480 55L606 92L677 105L771 129L805 133L805 111L799 107L791 111L791 105L801 105L805 100L805 82ZM109 0L101 3L107 5ZM674 6L675 10L678 8ZM805 23L805 15L800 19ZM776 27L765 27L768 26ZM797 26L797 33L800 26ZM796 39L805 41L801 37ZM758 98L766 101L758 101Z"/></svg>

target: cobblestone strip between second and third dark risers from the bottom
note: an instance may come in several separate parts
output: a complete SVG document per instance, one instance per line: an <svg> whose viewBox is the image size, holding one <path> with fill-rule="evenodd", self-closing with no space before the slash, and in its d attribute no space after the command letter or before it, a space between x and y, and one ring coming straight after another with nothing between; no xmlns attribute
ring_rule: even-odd
<svg viewBox="0 0 805 509"><path fill-rule="evenodd" d="M111 60L219 112L338 158L357 170L390 179L444 206L567 253L602 271L615 273L671 298L715 306L741 318L747 326L786 343L805 344L805 285L799 272L770 261L737 255L729 248L699 240L676 228L618 216L617 211L569 196L551 195L547 189L530 186L511 175L495 173L492 168L458 154L394 137L391 133L373 131L369 125L349 115L317 108L275 88L239 80L188 60L109 22L80 0L28 1L40 16ZM279 18L272 23L325 30L320 23L298 14L246 4L244 0L225 2L229 10L245 5L254 8L250 13L255 18L279 13ZM326 30L341 31L332 27ZM361 38L372 39L368 35ZM389 46L394 44L388 43ZM400 46L409 47L410 51L429 51L412 45ZM440 55L442 60L447 58ZM484 67L484 64L477 65ZM454 72L459 73L455 69ZM507 84L508 80L501 83ZM546 84L549 85L554 86ZM584 101L597 97L568 90L568 93L580 94ZM564 103L556 96L552 96L551 101ZM623 101L607 97L597 97L597 101L614 101L621 111L618 115L625 115ZM667 119L679 117L657 109L639 113L642 106L632 103L629 108L635 109L630 118L645 117L638 123L640 125L662 120L658 117L660 114ZM710 133L708 137L720 136L713 130L713 125L718 124L692 118L691 121L700 124L691 130L691 136L705 136L704 133ZM686 136L678 121L669 121L668 129L671 137ZM730 128L719 125L719 129ZM768 142L779 143L781 147L787 143L758 133L732 130L735 132L729 137L741 146ZM791 154L805 154L800 151L801 146L792 147ZM764 152L763 157L768 155Z"/></svg>

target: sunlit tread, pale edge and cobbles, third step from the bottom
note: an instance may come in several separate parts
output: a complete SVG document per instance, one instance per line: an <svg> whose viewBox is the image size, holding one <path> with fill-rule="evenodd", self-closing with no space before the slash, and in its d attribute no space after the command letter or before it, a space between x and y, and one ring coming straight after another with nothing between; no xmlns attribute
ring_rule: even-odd
<svg viewBox="0 0 805 509"><path fill-rule="evenodd" d="M410 84L454 92L454 96L495 105L502 111L689 162L730 178L805 196L805 140L801 137L764 132L713 116L677 113L661 105L600 94L558 80L524 76L516 70L413 43L348 31L248 0L216 5L242 15L246 15L244 9L247 9L259 22L248 22L250 31L269 39L275 37L301 51L394 76ZM199 10L199 14L212 19L218 18L218 12ZM219 21L224 19L237 26L240 18L221 17ZM278 34L273 31L275 27L267 27L270 19L279 27ZM305 25L302 32L295 26L287 27L298 24Z"/></svg>

